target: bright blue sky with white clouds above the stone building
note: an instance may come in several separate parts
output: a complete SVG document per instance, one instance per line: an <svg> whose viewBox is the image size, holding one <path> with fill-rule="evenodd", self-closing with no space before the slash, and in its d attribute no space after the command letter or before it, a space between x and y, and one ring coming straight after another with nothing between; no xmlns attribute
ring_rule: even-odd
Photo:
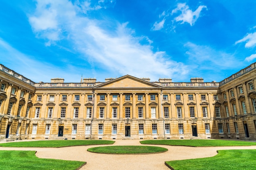
<svg viewBox="0 0 256 170"><path fill-rule="evenodd" d="M0 63L36 83L220 82L256 62L255 11L255 0L1 0Z"/></svg>

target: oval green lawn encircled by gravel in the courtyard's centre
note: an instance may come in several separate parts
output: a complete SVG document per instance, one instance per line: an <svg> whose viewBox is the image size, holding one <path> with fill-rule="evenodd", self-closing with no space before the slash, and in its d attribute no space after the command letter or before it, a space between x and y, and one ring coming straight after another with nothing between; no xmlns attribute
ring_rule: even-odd
<svg viewBox="0 0 256 170"><path fill-rule="evenodd" d="M156 146L102 146L87 149L89 152L106 154L146 154L162 153L168 149Z"/></svg>

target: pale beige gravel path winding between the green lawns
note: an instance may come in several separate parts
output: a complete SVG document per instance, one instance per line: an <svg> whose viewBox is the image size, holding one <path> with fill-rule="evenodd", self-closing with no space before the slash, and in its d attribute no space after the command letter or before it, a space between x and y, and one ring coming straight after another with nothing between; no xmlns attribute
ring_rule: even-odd
<svg viewBox="0 0 256 170"><path fill-rule="evenodd" d="M141 145L140 140L115 140L113 145ZM228 149L256 149L256 146L225 146L225 147L188 147L154 145L167 148L164 153L146 155L112 155L90 153L88 148L96 146L72 146L65 148L4 148L0 150L36 150L39 158L64 159L72 161L86 161L81 170L169 170L164 161L213 157L217 150ZM145 145L146 146L146 145ZM152 145L147 145L152 146Z"/></svg>

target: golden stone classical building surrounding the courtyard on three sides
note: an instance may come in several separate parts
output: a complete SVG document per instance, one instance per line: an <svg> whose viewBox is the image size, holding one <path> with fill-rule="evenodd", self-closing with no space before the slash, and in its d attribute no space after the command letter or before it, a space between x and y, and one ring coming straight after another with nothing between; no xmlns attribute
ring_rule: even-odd
<svg viewBox="0 0 256 170"><path fill-rule="evenodd" d="M256 139L256 63L220 83L34 83L0 65L0 139Z"/></svg>

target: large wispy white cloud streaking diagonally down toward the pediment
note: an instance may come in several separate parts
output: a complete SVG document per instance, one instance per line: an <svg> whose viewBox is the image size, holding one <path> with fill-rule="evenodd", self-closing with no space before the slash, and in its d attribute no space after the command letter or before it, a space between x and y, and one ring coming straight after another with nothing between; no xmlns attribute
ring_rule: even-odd
<svg viewBox="0 0 256 170"><path fill-rule="evenodd" d="M153 52L152 46L140 44L141 37L134 36L135 30L128 28L128 23L119 23L108 30L102 25L113 23L80 15L81 5L76 4L65 0L38 1L35 13L29 14L34 32L51 43L58 44L62 39L70 41L72 48L83 54L84 59L90 59L92 65L100 63L106 70L115 70L121 75L157 80L163 76L184 76L188 72L186 65L169 60L165 52ZM49 11L54 11L54 15L46 15ZM48 20L52 22L47 27L39 24ZM152 43L149 39L146 41Z"/></svg>

